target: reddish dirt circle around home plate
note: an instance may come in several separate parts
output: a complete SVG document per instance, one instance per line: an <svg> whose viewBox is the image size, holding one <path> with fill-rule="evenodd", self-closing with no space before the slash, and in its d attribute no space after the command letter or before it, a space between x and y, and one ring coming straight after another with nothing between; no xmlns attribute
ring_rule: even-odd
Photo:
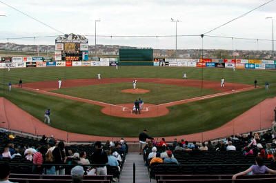
<svg viewBox="0 0 276 183"><path fill-rule="evenodd" d="M139 113L132 110L133 104L117 104L106 106L101 109L101 113L116 117L126 118L146 118L146 117L160 117L167 115L170 110L166 106L159 106L155 104L144 104Z"/></svg>

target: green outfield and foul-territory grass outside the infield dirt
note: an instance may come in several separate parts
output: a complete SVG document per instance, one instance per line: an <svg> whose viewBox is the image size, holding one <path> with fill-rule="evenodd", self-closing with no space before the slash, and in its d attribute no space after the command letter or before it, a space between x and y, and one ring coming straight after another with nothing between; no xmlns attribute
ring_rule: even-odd
<svg viewBox="0 0 276 183"><path fill-rule="evenodd" d="M126 119L110 117L99 112L101 107L84 104L72 100L61 99L32 93L30 91L12 88L8 93L8 81L23 82L45 81L96 77L97 73L103 77L161 77L181 78L186 72L188 79L201 79L201 73L206 80L219 81L221 77L227 81L253 84L254 79L259 84L264 81L275 82L275 71L271 70L233 70L217 68L161 68L161 67L81 67L81 68L23 68L0 70L0 96L6 97L34 117L43 120L44 110L52 110L51 123L56 128L65 131L90 135L104 135L116 137L136 137L142 129L148 128L150 135L184 135L217 128L229 122L237 115L255 106L268 97L275 97L276 87L270 85L266 92L264 88L251 90L235 95L227 95L206 99L203 101L181 104L170 107L170 113L163 117ZM110 90L110 88L107 88ZM159 91L161 93L161 91ZM170 96L168 96L170 98ZM261 114L260 114L261 115Z"/></svg>

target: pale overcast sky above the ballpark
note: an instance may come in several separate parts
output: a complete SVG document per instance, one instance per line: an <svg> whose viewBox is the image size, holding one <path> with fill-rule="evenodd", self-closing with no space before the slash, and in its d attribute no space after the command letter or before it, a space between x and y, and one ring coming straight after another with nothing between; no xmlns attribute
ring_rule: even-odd
<svg viewBox="0 0 276 183"><path fill-rule="evenodd" d="M260 6L268 0L0 0L39 19L60 32L87 36L95 44L95 19L97 44L175 49L175 22L178 49L201 48L200 34ZM272 19L276 20L276 0L237 19L208 35L272 39ZM8 37L38 37L61 35L43 24L26 17L0 3L0 42L15 44L55 44L55 37L32 39L6 39ZM135 35L153 37L111 37ZM172 35L174 37L159 37ZM5 38L5 39L3 39ZM271 50L272 41L225 39L204 37L206 49Z"/></svg>

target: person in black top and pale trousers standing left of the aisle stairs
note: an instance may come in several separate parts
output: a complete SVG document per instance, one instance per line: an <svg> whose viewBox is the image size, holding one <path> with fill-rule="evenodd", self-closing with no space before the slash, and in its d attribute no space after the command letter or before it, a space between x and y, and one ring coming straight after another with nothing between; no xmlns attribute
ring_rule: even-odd
<svg viewBox="0 0 276 183"><path fill-rule="evenodd" d="M108 155L103 151L101 142L95 143L95 152L92 155L92 162L96 165L97 175L107 175L107 169L105 164L108 163Z"/></svg>

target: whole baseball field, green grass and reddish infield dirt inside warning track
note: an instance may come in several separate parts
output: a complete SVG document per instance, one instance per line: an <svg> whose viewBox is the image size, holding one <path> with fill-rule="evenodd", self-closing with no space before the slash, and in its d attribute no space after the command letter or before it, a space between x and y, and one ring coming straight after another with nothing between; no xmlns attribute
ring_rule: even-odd
<svg viewBox="0 0 276 183"><path fill-rule="evenodd" d="M101 73L98 80L97 73ZM182 79L183 73L188 79ZM226 124L266 98L276 96L275 71L179 67L53 67L0 70L0 96L41 122L50 108L51 126L112 137L170 136L208 131ZM226 87L220 80L226 79ZM18 88L19 79L23 88ZM148 93L123 93L137 88ZM57 81L62 80L61 89ZM257 79L258 88L254 88ZM8 82L14 85L8 92ZM270 83L268 91L264 83ZM131 90L130 90L131 91ZM206 97L207 96L207 97ZM131 113L144 100L141 115ZM165 113L166 112L166 113Z"/></svg>

